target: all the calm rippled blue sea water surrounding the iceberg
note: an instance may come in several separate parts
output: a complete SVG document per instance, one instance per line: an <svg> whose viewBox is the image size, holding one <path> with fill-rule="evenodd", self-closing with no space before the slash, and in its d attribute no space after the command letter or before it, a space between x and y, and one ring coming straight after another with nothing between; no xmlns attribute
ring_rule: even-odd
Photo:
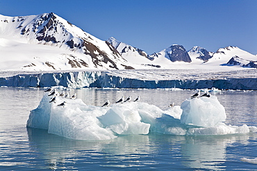
<svg viewBox="0 0 257 171"><path fill-rule="evenodd" d="M167 109L194 91L165 89L68 89L85 103L103 105L121 96ZM226 136L119 136L110 141L76 141L26 128L43 89L0 88L0 170L257 170L242 158L257 158L257 134ZM257 126L257 91L222 91L228 125Z"/></svg>

